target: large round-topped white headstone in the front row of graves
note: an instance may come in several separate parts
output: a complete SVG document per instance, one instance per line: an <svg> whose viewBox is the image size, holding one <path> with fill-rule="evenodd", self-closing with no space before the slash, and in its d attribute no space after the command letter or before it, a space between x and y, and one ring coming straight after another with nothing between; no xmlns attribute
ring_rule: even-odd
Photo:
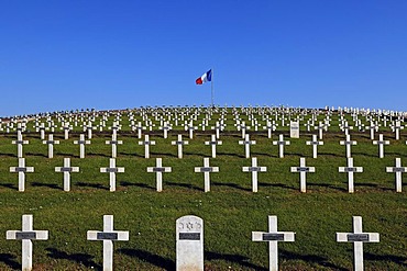
<svg viewBox="0 0 407 271"><path fill-rule="evenodd" d="M176 221L176 271L204 271L204 221L186 215Z"/></svg>

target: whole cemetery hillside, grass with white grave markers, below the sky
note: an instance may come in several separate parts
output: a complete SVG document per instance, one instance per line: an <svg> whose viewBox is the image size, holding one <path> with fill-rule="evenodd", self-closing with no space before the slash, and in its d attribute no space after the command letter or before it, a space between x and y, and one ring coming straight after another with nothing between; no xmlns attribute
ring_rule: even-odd
<svg viewBox="0 0 407 271"><path fill-rule="evenodd" d="M0 270L406 270L407 114L80 110L0 122Z"/></svg>

